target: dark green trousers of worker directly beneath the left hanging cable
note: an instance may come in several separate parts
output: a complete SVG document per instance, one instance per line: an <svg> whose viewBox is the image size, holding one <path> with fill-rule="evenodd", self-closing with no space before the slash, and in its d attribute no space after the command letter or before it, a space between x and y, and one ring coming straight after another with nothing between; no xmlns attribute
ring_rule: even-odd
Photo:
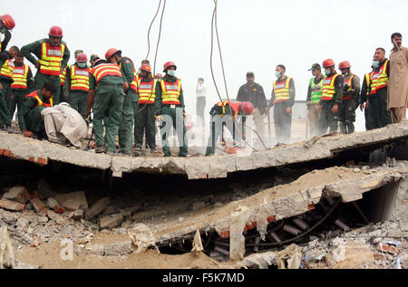
<svg viewBox="0 0 408 287"><path fill-rule="evenodd" d="M156 109L154 103L141 104L134 117L134 145L141 148L146 133L146 148L156 148Z"/></svg>

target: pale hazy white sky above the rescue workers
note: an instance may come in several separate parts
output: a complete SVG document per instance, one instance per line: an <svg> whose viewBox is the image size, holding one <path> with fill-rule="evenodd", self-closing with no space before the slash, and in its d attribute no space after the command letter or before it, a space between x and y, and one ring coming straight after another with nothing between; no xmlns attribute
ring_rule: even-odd
<svg viewBox="0 0 408 287"><path fill-rule="evenodd" d="M23 0L19 4L0 4L0 13L12 14L16 22L9 45L21 47L47 37L56 24L63 28L63 41L72 52L70 63L76 49L83 49L89 57L92 53L104 56L116 47L139 66L147 53L147 32L159 0ZM209 70L213 6L212 0L166 3L156 72L162 71L166 61L177 64L189 113L195 112L199 77L209 87L206 112L218 100ZM352 72L362 79L370 71L375 48L384 47L389 55L391 33L403 33L403 45L408 45L407 11L406 0L219 0L218 25L229 96L237 96L239 86L246 82L246 72L251 71L269 99L279 63L295 80L296 100L306 100L311 77L307 70L313 62L348 60ZM160 14L151 29L151 64L159 23ZM214 66L224 91L218 57ZM362 119L358 110L357 130L364 129Z"/></svg>

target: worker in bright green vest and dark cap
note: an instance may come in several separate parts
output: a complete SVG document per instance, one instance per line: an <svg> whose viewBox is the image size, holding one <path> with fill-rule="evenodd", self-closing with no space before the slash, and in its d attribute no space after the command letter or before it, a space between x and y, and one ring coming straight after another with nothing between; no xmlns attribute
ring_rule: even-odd
<svg viewBox="0 0 408 287"><path fill-rule="evenodd" d="M318 63L314 63L309 71L312 71L314 76L310 79L306 98L308 129L312 134L316 130L317 120L320 115L320 99L322 99L324 77L322 68Z"/></svg>

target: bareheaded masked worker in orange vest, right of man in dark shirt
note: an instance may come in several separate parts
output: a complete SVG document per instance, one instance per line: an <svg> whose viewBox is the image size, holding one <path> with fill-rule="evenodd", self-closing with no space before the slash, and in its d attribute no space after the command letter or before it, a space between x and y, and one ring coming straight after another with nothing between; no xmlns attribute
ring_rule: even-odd
<svg viewBox="0 0 408 287"><path fill-rule="evenodd" d="M290 131L292 128L292 106L295 103L295 82L291 77L285 75L284 65L277 65L274 88L268 108L274 108L275 134L278 143L290 142Z"/></svg>

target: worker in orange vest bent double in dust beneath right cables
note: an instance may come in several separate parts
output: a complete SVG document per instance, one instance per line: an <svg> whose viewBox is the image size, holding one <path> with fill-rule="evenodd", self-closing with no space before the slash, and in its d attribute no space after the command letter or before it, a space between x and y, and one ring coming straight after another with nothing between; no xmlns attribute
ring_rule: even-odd
<svg viewBox="0 0 408 287"><path fill-rule="evenodd" d="M216 103L209 111L211 121L209 123L210 133L206 156L211 156L215 153L215 147L219 137L224 140L224 126L227 126L234 141L241 141L241 136L242 139L245 140L244 127L245 121L247 120L246 115L250 115L253 110L254 106L249 101L232 102L230 100L223 100ZM241 119L238 119L239 116ZM242 129L240 130L237 130L238 127L236 126L238 120L242 123Z"/></svg>

